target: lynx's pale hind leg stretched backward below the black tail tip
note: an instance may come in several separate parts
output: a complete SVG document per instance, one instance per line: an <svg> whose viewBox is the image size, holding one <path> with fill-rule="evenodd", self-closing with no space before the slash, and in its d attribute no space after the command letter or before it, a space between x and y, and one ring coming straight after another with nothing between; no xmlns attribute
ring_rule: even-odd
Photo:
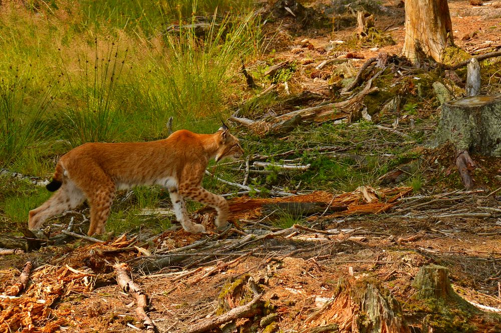
<svg viewBox="0 0 501 333"><path fill-rule="evenodd" d="M63 185L49 200L40 207L30 210L28 228L40 229L47 219L78 207L84 200L85 195L82 190L70 179L65 179Z"/></svg>

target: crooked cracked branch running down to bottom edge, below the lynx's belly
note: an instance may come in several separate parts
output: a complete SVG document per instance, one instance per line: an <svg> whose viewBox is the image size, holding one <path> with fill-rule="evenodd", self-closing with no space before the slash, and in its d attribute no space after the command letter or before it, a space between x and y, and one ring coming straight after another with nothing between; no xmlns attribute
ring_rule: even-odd
<svg viewBox="0 0 501 333"><path fill-rule="evenodd" d="M132 281L129 276L130 267L126 263L116 263L113 268L117 275L117 283L122 290L136 299L136 315L139 320L143 321L143 325L147 333L154 333L156 331L155 323L146 314L146 307L148 306L148 299L146 293Z"/></svg>

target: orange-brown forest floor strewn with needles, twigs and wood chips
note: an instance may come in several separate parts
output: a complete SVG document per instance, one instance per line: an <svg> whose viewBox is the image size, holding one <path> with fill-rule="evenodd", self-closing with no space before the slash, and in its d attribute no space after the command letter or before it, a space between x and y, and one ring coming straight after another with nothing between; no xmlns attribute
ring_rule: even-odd
<svg viewBox="0 0 501 333"><path fill-rule="evenodd" d="M311 4L317 13L343 22L336 16L332 2ZM376 29L382 32L378 38L389 35L394 45L350 43L356 20L333 32L332 28L311 26L297 29L294 17L286 16L283 21L269 23L268 33L273 39L262 61L273 64L294 60L299 64L288 81L293 94L308 90L325 99L333 98L333 94L339 98L332 92L337 65L320 70L328 73L331 81L323 80L322 73L312 74L316 66L332 59L337 51L358 53L363 59L350 61L344 69L345 74L352 70L353 76L367 59L381 52L398 55L402 49L403 8L398 2L377 6ZM458 47L472 53L476 50L475 54L501 47L501 9L488 5L473 7L466 1L449 2L449 9ZM348 42L330 42L337 40ZM302 47L305 43L313 47ZM326 52L329 45L334 47ZM305 61L309 59L311 64ZM258 62L246 66L252 73L261 65ZM490 79L498 84L499 75L494 72ZM483 93L495 93L485 81L482 84ZM407 89L413 90L415 85L415 81L409 81ZM284 96L285 89L280 83L276 88ZM419 116L436 113L436 102L429 104L427 109L418 111ZM376 109L380 107L376 105ZM394 141L404 142L412 131L417 131L410 126L412 115L402 117L400 125L392 127L394 117L385 118L371 111L370 106L368 109L372 119L380 119L386 127L382 133L393 129L402 134L394 136ZM260 118L252 112L243 116ZM436 121L431 116L416 126L428 136L432 135ZM253 129L242 131L246 130ZM276 140L287 138L284 134ZM338 145L331 153L341 154L348 146ZM475 187L467 191L461 187L450 149L423 148L418 143L409 147L419 152L419 168L426 186L413 191L412 185L389 182L380 188L361 186L344 194L319 191L299 196L302 199L288 197L289 201L314 202L322 207L315 214L293 214L296 218L289 225L278 227L275 223L280 216L274 218L274 213L284 208L273 205L282 199L264 198L250 203L253 199L240 196L229 199L234 225L223 233L214 232L214 213L200 209L192 218L204 223L206 234L189 234L174 225L159 235L122 235L104 243L76 239L64 245L2 256L2 292L16 282L25 262L36 263L36 268L26 292L17 298L0 298L0 331L137 331L134 326L141 327L142 323L135 315L135 299L117 285L113 269L116 262L127 262L133 267L135 282L149 297L149 317L163 332L189 331L195 324L220 315L228 303L229 307L245 304L249 301L243 296L245 292L237 295L235 289L248 285L249 276L262 289L263 309L251 318L242 317L226 324L221 328L223 332L313 332L315 327L332 323L341 327L339 331L357 331L355 322L363 322L362 318L340 314L328 305L339 296L341 279L367 277L377 280L375 283L389 290L400 303L403 320L410 327L407 331L431 327L429 331L500 332L501 317L494 314L469 312L461 314L463 320L442 322L436 315L447 318L445 313L417 308L412 281L422 266L445 266L457 294L501 311L501 161L473 154L478 163L473 171ZM249 158L251 165L256 160L260 157ZM447 181L434 181L443 175L449 177ZM79 223L85 222L81 215L71 212L60 223L66 225L72 217L74 231L78 231L75 229L81 227ZM85 223L81 229L85 233ZM181 247L185 248L179 250ZM269 313L277 316L260 325L261 318ZM448 313L451 318L453 314ZM342 322L347 317L353 326Z"/></svg>

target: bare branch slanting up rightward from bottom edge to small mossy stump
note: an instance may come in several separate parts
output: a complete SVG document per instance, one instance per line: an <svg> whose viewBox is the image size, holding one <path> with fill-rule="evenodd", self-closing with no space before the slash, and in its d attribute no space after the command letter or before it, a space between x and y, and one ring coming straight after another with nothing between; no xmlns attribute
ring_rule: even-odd
<svg viewBox="0 0 501 333"><path fill-rule="evenodd" d="M232 321L238 318L249 318L261 312L261 307L258 303L261 300L261 294L257 295L245 305L237 306L228 312L221 314L215 318L207 318L202 322L192 325L184 331L184 333L202 333L212 328L215 328L225 322Z"/></svg>

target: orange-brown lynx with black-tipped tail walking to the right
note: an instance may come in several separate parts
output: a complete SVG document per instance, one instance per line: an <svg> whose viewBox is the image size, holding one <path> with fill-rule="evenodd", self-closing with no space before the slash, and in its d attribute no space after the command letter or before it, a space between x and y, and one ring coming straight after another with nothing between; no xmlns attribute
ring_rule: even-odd
<svg viewBox="0 0 501 333"><path fill-rule="evenodd" d="M57 192L30 211L28 226L39 229L48 218L87 199L91 207L88 235L102 234L117 189L158 184L169 190L176 219L186 231L199 233L205 228L189 219L184 198L214 207L215 225L222 228L228 204L202 188L202 178L210 159L238 159L242 154L238 139L224 124L214 134L180 130L158 141L83 144L59 159L47 185L49 191Z"/></svg>

